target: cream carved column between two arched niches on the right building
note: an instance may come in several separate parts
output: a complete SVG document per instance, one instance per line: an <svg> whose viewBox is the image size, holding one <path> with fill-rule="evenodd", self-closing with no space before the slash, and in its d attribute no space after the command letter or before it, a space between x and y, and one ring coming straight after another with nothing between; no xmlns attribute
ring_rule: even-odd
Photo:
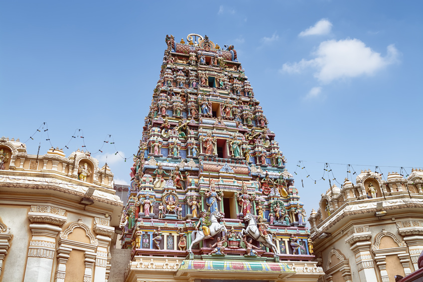
<svg viewBox="0 0 423 282"><path fill-rule="evenodd" d="M369 227L354 227L348 234L351 235L345 239L345 243L351 245L350 250L355 254L355 262L360 281L378 281L376 278L375 266L370 254L370 245L372 245L370 238L372 238L372 233L369 232Z"/></svg>

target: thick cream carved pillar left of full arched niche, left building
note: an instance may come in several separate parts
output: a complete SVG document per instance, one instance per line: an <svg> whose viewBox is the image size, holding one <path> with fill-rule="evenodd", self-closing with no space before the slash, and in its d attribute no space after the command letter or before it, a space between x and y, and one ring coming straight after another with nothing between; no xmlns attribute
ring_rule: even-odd
<svg viewBox="0 0 423 282"><path fill-rule="evenodd" d="M53 268L57 234L66 222L65 210L53 206L31 206L28 219L32 238L29 243L24 282L49 281Z"/></svg>

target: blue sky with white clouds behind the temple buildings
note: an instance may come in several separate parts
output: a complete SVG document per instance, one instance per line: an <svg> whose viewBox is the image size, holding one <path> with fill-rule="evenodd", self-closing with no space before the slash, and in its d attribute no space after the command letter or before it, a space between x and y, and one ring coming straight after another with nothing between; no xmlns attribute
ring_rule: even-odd
<svg viewBox="0 0 423 282"><path fill-rule="evenodd" d="M85 141L128 183L164 37L199 33L235 46L307 214L329 188L325 162L340 183L345 164L423 166L422 1L175 3L0 1L0 135L26 141L46 122L29 153L49 149L47 133L71 140L67 155Z"/></svg>

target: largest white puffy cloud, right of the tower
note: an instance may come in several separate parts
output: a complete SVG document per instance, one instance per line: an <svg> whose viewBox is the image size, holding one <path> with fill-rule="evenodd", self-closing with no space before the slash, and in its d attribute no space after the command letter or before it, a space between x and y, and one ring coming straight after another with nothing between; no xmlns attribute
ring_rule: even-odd
<svg viewBox="0 0 423 282"><path fill-rule="evenodd" d="M330 83L336 79L371 76L397 62L399 52L394 45L389 45L387 55L382 57L358 39L344 39L324 41L312 55L315 58L311 60L283 64L281 72L301 73L315 69L315 78L322 83Z"/></svg>

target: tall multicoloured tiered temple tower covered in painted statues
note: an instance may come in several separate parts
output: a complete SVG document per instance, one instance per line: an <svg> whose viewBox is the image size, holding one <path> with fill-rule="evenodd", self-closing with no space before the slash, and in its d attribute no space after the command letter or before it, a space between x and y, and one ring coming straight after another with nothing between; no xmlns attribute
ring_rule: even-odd
<svg viewBox="0 0 423 282"><path fill-rule="evenodd" d="M126 280L316 281L303 204L234 46L165 41L121 224Z"/></svg>

